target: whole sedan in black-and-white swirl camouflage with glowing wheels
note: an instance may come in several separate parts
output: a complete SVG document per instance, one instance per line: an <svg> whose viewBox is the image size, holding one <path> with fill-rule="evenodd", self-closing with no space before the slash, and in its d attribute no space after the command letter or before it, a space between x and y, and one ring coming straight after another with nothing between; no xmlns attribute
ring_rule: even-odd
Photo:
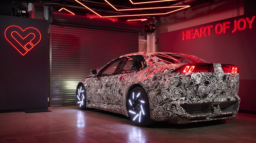
<svg viewBox="0 0 256 143"><path fill-rule="evenodd" d="M133 53L91 73L76 88L80 109L123 114L138 126L235 118L240 104L238 67L191 55Z"/></svg>

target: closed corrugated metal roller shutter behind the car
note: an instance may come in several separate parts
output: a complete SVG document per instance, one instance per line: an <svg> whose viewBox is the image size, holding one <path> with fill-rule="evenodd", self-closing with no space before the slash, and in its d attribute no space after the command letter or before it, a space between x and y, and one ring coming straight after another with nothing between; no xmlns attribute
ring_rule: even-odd
<svg viewBox="0 0 256 143"><path fill-rule="evenodd" d="M50 106L76 105L78 81L138 44L138 33L51 25Z"/></svg>

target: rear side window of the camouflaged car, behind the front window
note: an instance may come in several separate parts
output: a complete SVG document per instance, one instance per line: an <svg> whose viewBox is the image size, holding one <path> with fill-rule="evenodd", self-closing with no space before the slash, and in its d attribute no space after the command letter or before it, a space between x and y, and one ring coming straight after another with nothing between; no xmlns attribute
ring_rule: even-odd
<svg viewBox="0 0 256 143"><path fill-rule="evenodd" d="M146 66L146 62L143 56L127 56L125 57L122 67L118 74L139 72L143 70Z"/></svg>

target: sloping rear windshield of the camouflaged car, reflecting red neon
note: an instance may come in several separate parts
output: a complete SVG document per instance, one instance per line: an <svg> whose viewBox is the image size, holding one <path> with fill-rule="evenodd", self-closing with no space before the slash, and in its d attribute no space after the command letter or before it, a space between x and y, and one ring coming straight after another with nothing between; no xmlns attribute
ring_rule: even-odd
<svg viewBox="0 0 256 143"><path fill-rule="evenodd" d="M202 59L199 59L195 56L184 55L184 54L163 54L163 53L156 53L153 54L154 56L158 57L161 61L165 62L166 64L190 64L190 63L208 63Z"/></svg>

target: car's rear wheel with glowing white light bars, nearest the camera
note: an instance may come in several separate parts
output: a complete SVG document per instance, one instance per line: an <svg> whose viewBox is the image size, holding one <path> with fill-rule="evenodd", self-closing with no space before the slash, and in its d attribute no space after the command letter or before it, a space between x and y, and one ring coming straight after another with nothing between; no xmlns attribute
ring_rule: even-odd
<svg viewBox="0 0 256 143"><path fill-rule="evenodd" d="M127 109L130 119L137 126L150 126L155 123L150 118L148 97L142 87L135 87L128 96Z"/></svg>

